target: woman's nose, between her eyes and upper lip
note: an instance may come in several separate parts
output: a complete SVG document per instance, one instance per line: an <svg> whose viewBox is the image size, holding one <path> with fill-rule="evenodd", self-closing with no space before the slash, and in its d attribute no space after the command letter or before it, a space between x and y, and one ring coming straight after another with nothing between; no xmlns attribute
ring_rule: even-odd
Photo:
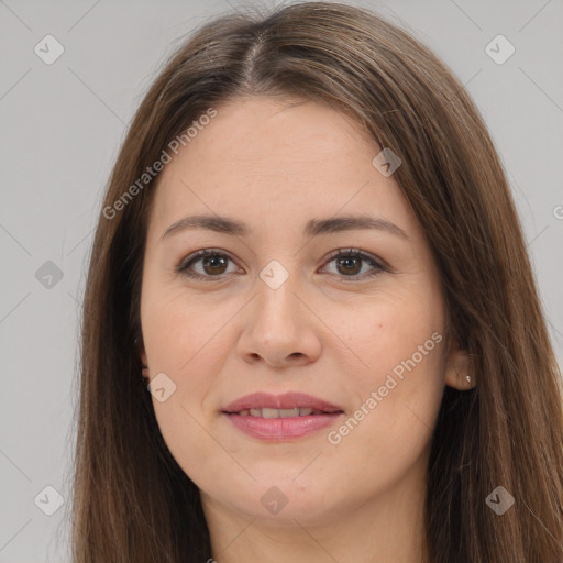
<svg viewBox="0 0 563 563"><path fill-rule="evenodd" d="M297 277L291 274L276 289L257 277L257 295L245 307L245 328L236 346L245 362L283 368L307 365L320 356L322 322Z"/></svg>

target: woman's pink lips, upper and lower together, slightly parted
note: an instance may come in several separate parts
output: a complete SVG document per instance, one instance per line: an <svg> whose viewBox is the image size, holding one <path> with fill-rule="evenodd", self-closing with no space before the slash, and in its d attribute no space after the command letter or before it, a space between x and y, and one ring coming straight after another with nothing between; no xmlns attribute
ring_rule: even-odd
<svg viewBox="0 0 563 563"><path fill-rule="evenodd" d="M321 415L289 418L262 418L239 415L241 410L246 409L292 409L296 407L311 408L323 412ZM276 442L308 435L333 424L336 419L344 415L343 409L336 405L303 393L286 393L284 395L253 393L231 402L222 412L235 428L245 434Z"/></svg>

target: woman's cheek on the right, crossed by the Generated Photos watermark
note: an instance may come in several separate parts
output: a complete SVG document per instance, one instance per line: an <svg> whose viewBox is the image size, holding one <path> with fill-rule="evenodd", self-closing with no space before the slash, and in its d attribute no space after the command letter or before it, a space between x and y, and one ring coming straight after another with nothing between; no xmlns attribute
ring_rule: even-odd
<svg viewBox="0 0 563 563"><path fill-rule="evenodd" d="M353 316L330 320L350 349L351 362L343 367L356 408L332 443L339 441L354 463L385 459L397 473L429 442L444 388L439 295L428 288L387 294Z"/></svg>

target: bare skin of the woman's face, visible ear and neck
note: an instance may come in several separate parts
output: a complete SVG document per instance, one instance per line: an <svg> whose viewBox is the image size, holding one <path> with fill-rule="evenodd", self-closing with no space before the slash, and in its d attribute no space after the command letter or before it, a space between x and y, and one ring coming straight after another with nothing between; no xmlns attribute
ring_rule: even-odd
<svg viewBox="0 0 563 563"><path fill-rule="evenodd" d="M380 147L343 114L265 97L217 110L159 177L141 296L148 377L164 372L176 385L166 400L153 397L155 415L201 492L210 558L420 562L429 444L444 385L473 385L467 355L445 331L424 234L393 175L372 165ZM196 229L159 240L196 213L244 221L252 234ZM368 229L302 233L313 218L366 213L400 227L408 240ZM192 263L202 280L176 271L201 249L229 260ZM339 265L329 256L339 249L360 249L390 271L366 260ZM288 273L277 289L260 277L272 260ZM441 342L330 443L329 431L433 333ZM221 413L257 390L308 393L345 416L302 438L258 440ZM273 486L287 499L277 514L261 503Z"/></svg>

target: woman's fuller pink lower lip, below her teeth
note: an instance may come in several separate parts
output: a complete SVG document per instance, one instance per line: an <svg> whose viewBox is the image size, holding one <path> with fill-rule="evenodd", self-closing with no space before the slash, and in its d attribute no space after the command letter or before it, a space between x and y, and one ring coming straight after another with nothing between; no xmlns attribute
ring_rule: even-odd
<svg viewBox="0 0 563 563"><path fill-rule="evenodd" d="M227 412L225 415L245 434L261 438L262 440L280 441L301 438L321 430L334 423L343 412L291 418L262 418L251 415L241 417L240 415Z"/></svg>

